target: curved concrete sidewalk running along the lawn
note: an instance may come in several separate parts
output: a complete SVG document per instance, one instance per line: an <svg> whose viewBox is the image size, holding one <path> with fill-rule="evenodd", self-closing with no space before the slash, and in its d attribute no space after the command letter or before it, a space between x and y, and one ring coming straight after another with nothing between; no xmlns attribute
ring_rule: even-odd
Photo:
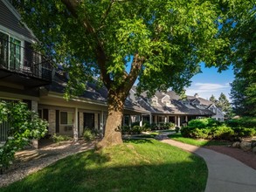
<svg viewBox="0 0 256 192"><path fill-rule="evenodd" d="M256 192L256 170L225 154L167 138L162 140L204 158L208 168L205 192Z"/></svg>

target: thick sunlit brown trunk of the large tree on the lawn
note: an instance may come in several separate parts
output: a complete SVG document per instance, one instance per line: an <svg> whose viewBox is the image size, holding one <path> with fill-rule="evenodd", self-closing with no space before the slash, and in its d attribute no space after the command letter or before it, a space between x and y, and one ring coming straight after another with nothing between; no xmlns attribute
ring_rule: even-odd
<svg viewBox="0 0 256 192"><path fill-rule="evenodd" d="M97 148L109 147L122 143L121 122L125 98L123 93L108 92L108 115L104 138L97 144Z"/></svg>

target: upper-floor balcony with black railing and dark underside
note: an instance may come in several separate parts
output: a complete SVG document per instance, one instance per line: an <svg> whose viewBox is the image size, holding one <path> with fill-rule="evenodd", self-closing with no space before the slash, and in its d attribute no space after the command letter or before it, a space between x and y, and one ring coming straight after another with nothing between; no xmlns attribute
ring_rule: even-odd
<svg viewBox="0 0 256 192"><path fill-rule="evenodd" d="M10 40L10 41L8 41ZM52 83L52 60L32 51L31 44L0 36L0 81L26 88Z"/></svg>

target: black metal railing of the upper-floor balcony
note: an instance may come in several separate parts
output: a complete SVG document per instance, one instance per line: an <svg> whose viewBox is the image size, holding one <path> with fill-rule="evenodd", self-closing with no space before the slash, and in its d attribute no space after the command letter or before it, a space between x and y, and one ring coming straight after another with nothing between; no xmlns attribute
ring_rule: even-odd
<svg viewBox="0 0 256 192"><path fill-rule="evenodd" d="M0 68L52 81L52 59L33 51L31 44L26 41L21 46L0 38Z"/></svg>

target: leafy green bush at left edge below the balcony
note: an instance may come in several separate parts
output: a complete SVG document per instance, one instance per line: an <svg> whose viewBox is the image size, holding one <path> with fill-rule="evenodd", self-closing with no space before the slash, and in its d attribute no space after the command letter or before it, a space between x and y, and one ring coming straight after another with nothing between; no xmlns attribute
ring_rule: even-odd
<svg viewBox="0 0 256 192"><path fill-rule="evenodd" d="M9 122L8 139L0 147L0 169L8 168L14 160L17 150L39 139L47 133L48 123L38 117L38 113L30 111L22 102L0 102L0 123Z"/></svg>

